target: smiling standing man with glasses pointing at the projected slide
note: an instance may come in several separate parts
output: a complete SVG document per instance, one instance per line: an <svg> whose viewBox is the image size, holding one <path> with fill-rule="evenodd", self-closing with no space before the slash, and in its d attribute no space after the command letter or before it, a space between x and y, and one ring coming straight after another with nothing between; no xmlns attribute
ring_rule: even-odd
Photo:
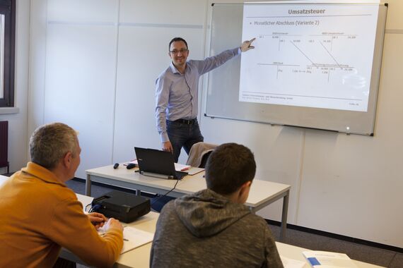
<svg viewBox="0 0 403 268"><path fill-rule="evenodd" d="M254 40L203 61L187 61L189 47L185 39L175 37L170 41L168 55L172 62L156 80L156 120L162 149L172 152L175 162L182 147L189 154L194 143L204 140L197 122L200 76L241 52L253 49Z"/></svg>

